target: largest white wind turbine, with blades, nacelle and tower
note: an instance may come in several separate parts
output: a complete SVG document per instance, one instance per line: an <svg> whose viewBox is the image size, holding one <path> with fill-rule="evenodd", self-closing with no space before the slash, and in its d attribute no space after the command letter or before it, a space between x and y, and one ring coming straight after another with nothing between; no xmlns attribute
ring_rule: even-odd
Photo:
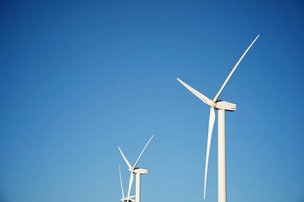
<svg viewBox="0 0 304 202"><path fill-rule="evenodd" d="M226 86L227 82L231 78L234 71L237 69L238 65L246 55L246 53L249 51L250 47L253 45L253 43L256 41L256 39L259 37L259 35L253 40L253 42L249 45L243 56L240 58L236 66L233 68L229 76L226 78L225 82L219 89L218 93L215 95L213 99L209 99L199 91L195 90L191 86L184 83L182 80L177 78L177 80L184 85L188 90L190 90L193 94L195 94L197 97L199 97L205 104L207 104L210 107L210 117L209 117L209 128L208 128L208 139L207 139L207 153L206 153L206 167L205 167L205 184L204 184L204 199L206 196L206 180L207 180L207 170L208 170L208 160L209 160L209 151L210 151L210 144L211 144L211 136L212 136L212 130L213 125L215 121L215 113L214 110L218 111L218 201L219 202L226 202L226 148L225 148L225 111L234 112L236 111L236 105L232 103L227 103L222 100L218 100L219 95L223 91L224 87Z"/></svg>

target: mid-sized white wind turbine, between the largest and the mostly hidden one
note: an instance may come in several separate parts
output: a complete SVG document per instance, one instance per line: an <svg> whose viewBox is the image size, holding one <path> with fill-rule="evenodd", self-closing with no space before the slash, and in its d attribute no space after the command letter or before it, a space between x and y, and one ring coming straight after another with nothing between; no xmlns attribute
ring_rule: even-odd
<svg viewBox="0 0 304 202"><path fill-rule="evenodd" d="M152 135L152 137L149 139L148 143L151 141L151 139L153 138L154 135ZM141 151L137 161L135 162L134 166L132 167L131 164L128 162L128 160L126 159L125 155L123 154L122 150L120 149L120 147L118 146L125 162L127 163L128 167L129 167L129 171L131 172L130 175L130 182L129 182L129 191L128 191L128 197L127 200L130 198L130 191L131 191L131 186L132 186L132 182L133 182L133 173L136 174L136 187L135 187L135 199L136 202L140 202L140 175L146 175L148 174L148 171L142 168L136 168L136 165L138 164L138 161L144 151L144 149L147 147L148 143L145 145L145 147L143 148L143 150Z"/></svg>

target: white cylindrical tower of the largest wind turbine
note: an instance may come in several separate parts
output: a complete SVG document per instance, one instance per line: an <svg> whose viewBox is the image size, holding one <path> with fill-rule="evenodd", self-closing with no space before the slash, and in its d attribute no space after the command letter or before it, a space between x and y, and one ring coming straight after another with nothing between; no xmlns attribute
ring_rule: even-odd
<svg viewBox="0 0 304 202"><path fill-rule="evenodd" d="M218 110L217 115L217 201L226 202L225 110Z"/></svg>

